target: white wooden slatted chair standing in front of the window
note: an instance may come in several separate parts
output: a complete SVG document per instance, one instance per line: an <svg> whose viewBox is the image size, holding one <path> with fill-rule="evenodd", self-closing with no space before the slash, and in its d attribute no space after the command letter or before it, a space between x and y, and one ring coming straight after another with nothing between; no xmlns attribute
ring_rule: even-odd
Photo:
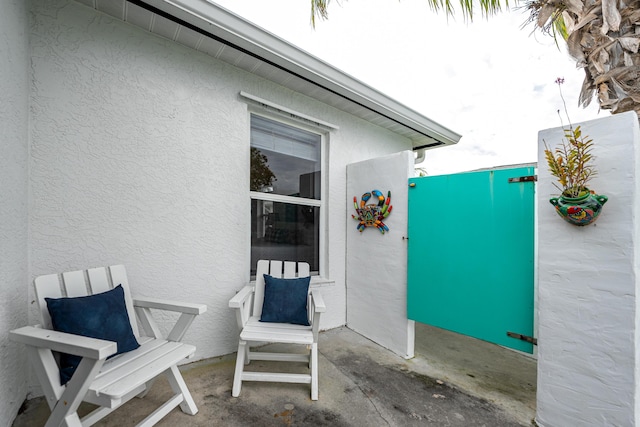
<svg viewBox="0 0 640 427"><path fill-rule="evenodd" d="M229 301L229 307L236 310L238 327L241 330L232 396L238 397L240 395L242 381L267 381L311 384L311 399L318 400L318 333L320 314L326 310L320 290L310 289L308 293L307 310L310 326L260 322L265 292L263 274L285 279L306 277L309 276L309 264L297 263L296 273L295 262L260 260L256 269L255 285L245 286ZM252 351L250 348L252 344L264 343L304 345L309 351L306 354L268 353ZM244 365L249 364L251 360L305 362L309 366L309 373L245 371Z"/></svg>

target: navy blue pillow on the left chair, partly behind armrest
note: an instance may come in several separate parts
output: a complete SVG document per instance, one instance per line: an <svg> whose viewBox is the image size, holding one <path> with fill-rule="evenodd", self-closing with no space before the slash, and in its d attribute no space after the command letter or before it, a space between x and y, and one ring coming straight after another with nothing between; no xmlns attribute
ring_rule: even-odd
<svg viewBox="0 0 640 427"><path fill-rule="evenodd" d="M75 298L45 298L53 329L118 343L113 356L140 347L136 340L122 285L107 292ZM110 356L110 357L113 357ZM60 382L64 385L80 364L80 356L60 354Z"/></svg>

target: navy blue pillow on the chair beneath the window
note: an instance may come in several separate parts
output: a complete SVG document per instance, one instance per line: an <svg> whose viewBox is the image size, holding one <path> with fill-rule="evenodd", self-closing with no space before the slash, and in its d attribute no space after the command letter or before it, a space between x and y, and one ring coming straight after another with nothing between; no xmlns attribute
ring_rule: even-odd
<svg viewBox="0 0 640 427"><path fill-rule="evenodd" d="M264 275L264 303L261 322L309 326L307 295L311 277L278 279Z"/></svg>

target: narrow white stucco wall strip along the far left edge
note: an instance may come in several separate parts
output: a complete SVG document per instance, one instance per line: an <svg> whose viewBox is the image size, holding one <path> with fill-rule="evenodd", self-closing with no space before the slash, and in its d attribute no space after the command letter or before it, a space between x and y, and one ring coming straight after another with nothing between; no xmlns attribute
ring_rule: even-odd
<svg viewBox="0 0 640 427"><path fill-rule="evenodd" d="M0 0L0 426L26 397L23 349L8 332L27 321L27 5Z"/></svg>

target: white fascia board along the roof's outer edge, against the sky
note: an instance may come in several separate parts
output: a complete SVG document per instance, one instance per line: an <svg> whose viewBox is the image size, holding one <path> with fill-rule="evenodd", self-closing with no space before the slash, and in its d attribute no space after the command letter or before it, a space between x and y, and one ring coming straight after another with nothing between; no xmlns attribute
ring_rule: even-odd
<svg viewBox="0 0 640 427"><path fill-rule="evenodd" d="M446 145L461 138L460 134L215 3L207 0L145 0L145 3Z"/></svg>

